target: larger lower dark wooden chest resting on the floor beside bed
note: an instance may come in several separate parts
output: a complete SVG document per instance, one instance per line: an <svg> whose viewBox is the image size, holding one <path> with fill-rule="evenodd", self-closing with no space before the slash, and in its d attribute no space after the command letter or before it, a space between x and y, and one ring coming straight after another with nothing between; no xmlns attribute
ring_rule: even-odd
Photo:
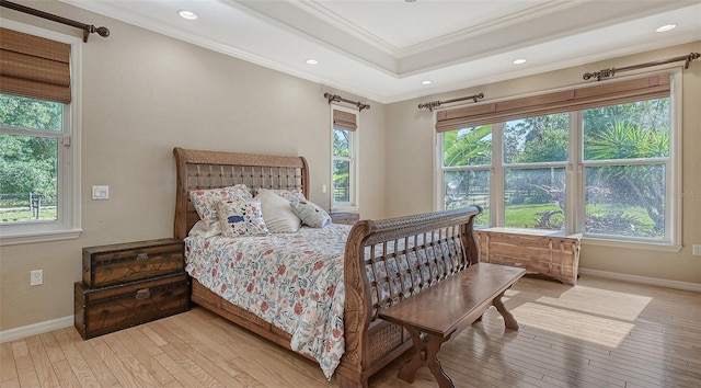
<svg viewBox="0 0 701 388"><path fill-rule="evenodd" d="M76 329L87 340L186 311L189 286L184 272L103 288L77 282Z"/></svg>

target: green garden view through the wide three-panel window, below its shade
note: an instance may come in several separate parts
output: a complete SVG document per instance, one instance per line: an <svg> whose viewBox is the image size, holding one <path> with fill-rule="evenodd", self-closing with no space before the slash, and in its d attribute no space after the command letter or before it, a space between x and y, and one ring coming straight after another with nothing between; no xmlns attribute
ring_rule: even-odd
<svg viewBox="0 0 701 388"><path fill-rule="evenodd" d="M445 207L479 204L489 215L501 202L497 225L565 230L574 217L584 221L571 232L665 240L670 104L669 98L648 99L445 132ZM571 121L575 113L579 123ZM578 141L571 141L577 132ZM497 137L502 158L493 160ZM583 183L566 186L568 170L578 176L570 182ZM492 186L490 176L498 179ZM572 197L579 205L566 206L568 190L578 191ZM489 225L489 216L478 224Z"/></svg>

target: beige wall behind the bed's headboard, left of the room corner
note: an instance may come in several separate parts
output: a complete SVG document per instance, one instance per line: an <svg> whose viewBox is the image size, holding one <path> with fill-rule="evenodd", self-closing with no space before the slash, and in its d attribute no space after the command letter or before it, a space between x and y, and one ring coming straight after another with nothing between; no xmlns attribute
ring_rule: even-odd
<svg viewBox="0 0 701 388"><path fill-rule="evenodd" d="M372 105L360 113L361 216L384 204L382 104L223 56L56 1L32 8L95 25L111 36L83 45L82 226L79 239L0 248L0 331L73 313L81 249L173 236L173 147L301 155L310 199L329 208L331 124L325 91ZM77 35L36 18L4 18ZM92 201L91 185L110 185ZM30 287L30 271L44 285Z"/></svg>

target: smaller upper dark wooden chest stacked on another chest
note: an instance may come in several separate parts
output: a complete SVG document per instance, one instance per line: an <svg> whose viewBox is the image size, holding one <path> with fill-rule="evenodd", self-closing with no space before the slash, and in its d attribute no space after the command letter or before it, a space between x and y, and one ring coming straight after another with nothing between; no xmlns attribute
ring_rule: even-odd
<svg viewBox="0 0 701 388"><path fill-rule="evenodd" d="M83 283L100 288L183 272L183 250L176 239L83 248Z"/></svg>

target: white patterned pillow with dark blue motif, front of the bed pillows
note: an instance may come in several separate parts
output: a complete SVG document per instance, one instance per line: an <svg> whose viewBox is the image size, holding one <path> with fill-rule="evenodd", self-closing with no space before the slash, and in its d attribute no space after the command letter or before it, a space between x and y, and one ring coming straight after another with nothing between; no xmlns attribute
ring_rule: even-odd
<svg viewBox="0 0 701 388"><path fill-rule="evenodd" d="M269 233L263 219L261 202L250 201L219 201L219 224L221 235L227 237L263 236Z"/></svg>

